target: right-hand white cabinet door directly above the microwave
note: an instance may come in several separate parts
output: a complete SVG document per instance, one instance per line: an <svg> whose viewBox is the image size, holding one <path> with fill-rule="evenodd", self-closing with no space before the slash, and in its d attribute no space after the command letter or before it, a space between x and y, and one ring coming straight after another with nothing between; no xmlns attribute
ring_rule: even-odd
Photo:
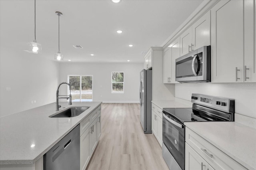
<svg viewBox="0 0 256 170"><path fill-rule="evenodd" d="M192 25L192 51L211 44L210 20L210 11L208 11Z"/></svg>

